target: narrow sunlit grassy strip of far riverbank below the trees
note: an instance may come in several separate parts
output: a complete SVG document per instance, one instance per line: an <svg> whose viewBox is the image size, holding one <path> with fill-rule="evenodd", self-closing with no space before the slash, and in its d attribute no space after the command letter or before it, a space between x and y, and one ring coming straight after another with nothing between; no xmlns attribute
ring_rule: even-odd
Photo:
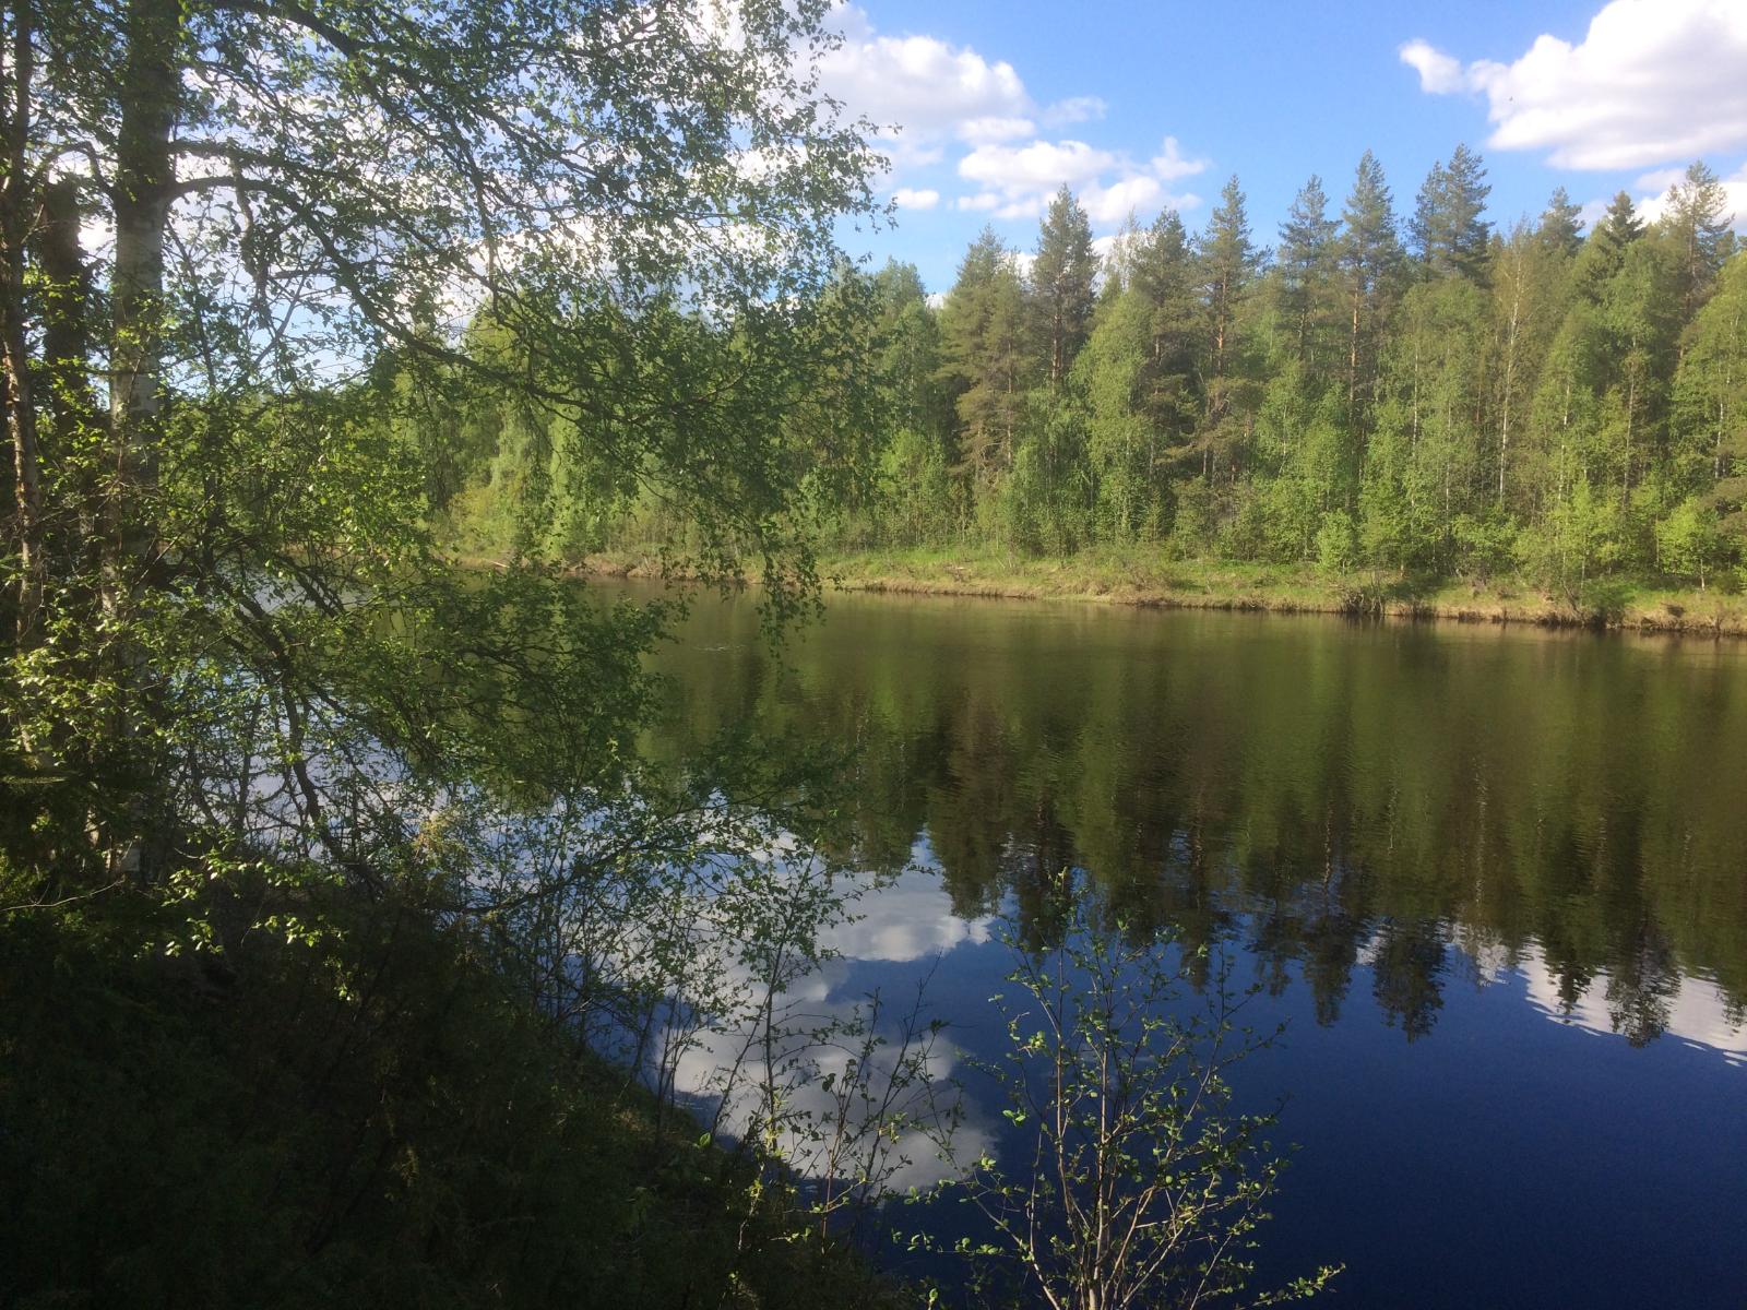
<svg viewBox="0 0 1747 1310"><path fill-rule="evenodd" d="M657 576L660 566L653 555L613 552L589 555L580 571L636 578ZM1719 587L1668 589L1625 578L1592 583L1578 597L1558 597L1520 582L1480 585L1375 573L1331 576L1314 566L1183 561L1157 550L1027 559L1001 550L940 548L825 554L819 575L839 590L908 596L1747 636L1744 596L1730 596Z"/></svg>

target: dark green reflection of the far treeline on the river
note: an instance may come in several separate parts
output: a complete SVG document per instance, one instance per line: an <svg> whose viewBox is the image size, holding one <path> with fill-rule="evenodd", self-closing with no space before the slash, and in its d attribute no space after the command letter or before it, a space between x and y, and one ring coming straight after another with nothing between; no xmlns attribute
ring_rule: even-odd
<svg viewBox="0 0 1747 1310"><path fill-rule="evenodd" d="M938 882L900 880L849 957L975 940L1005 898L1046 933L1074 866L1191 947L1240 941L1321 1024L1368 987L1420 1039L1452 985L1518 971L1571 1024L1738 1057L1740 646L842 596L784 667L755 624L694 608L657 746L853 751L844 854Z"/></svg>

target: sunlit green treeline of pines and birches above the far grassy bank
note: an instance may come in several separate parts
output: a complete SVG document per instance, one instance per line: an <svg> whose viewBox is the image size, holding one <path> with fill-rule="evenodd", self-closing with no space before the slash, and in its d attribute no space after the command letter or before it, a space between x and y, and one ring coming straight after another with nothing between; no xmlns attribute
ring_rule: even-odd
<svg viewBox="0 0 1747 1310"><path fill-rule="evenodd" d="M1747 260L1716 175L1693 164L1656 222L1621 192L1588 234L1564 190L1511 225L1488 190L1457 147L1403 222L1366 154L1338 204L1312 176L1272 248L1232 178L1202 232L1165 211L1101 257L1062 189L1029 260L984 231L938 307L910 265L846 272L872 299L880 477L826 541L1158 543L1572 599L1609 575L1738 582ZM501 541L533 470L486 445L458 524ZM660 529L645 501L547 545Z"/></svg>

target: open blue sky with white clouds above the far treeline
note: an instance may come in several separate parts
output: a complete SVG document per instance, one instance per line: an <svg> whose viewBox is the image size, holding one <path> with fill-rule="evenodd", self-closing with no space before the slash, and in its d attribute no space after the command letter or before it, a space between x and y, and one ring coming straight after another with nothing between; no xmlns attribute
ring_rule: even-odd
<svg viewBox="0 0 1747 1310"><path fill-rule="evenodd" d="M846 245L915 262L931 290L985 222L1031 248L1062 182L1104 236L1165 204L1198 231L1237 173L1272 245L1303 180L1338 206L1366 148L1403 215L1467 141L1495 222L1557 185L1595 206L1625 187L1654 211L1703 157L1747 224L1747 0L858 0L832 23L826 89L903 126L882 141L898 227Z"/></svg>

